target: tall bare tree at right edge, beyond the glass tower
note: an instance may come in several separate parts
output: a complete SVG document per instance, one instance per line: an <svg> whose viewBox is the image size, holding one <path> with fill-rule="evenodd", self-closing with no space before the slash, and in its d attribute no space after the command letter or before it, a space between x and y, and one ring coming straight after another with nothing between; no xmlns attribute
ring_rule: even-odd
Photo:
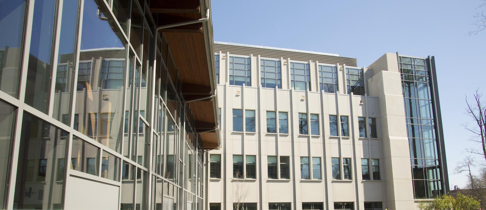
<svg viewBox="0 0 486 210"><path fill-rule="evenodd" d="M466 151L472 154L481 155L486 161L486 102L482 100L483 94L476 93L473 95L474 101L469 104L468 97L466 96L466 114L469 115L473 120L475 125L469 126L468 124L463 124L463 126L474 134L471 137L471 141L481 143L481 147L469 148Z"/></svg>

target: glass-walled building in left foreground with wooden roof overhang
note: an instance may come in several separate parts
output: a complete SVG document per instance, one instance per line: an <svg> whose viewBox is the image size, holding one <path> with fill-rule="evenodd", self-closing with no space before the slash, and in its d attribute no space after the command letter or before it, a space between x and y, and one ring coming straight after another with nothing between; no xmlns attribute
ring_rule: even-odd
<svg viewBox="0 0 486 210"><path fill-rule="evenodd" d="M208 0L0 1L0 209L202 210Z"/></svg>

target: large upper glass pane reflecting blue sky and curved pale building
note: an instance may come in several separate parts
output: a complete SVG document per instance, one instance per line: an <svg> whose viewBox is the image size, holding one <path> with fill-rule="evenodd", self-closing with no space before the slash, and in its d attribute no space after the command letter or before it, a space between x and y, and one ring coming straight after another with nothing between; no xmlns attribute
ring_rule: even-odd
<svg viewBox="0 0 486 210"><path fill-rule="evenodd" d="M108 17L104 6L98 6L97 2L84 2L78 91L73 110L79 114L79 132L121 152L126 43L113 18L103 20L92 15L99 11ZM81 67L85 70L81 71ZM100 78L92 75L100 75ZM80 81L80 77L84 79ZM97 116L98 113L106 114ZM102 119L104 122L98 123ZM98 125L104 125L103 132L97 132Z"/></svg>

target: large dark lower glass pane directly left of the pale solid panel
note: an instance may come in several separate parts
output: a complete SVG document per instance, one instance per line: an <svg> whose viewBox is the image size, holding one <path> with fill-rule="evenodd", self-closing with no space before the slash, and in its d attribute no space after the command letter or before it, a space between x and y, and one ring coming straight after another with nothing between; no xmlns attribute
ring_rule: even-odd
<svg viewBox="0 0 486 210"><path fill-rule="evenodd" d="M14 209L62 209L67 132L26 112L21 129Z"/></svg>

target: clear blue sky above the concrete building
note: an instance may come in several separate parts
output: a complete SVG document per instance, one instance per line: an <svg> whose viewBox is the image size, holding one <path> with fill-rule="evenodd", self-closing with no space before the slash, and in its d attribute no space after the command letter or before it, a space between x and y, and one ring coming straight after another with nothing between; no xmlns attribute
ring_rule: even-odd
<svg viewBox="0 0 486 210"><path fill-rule="evenodd" d="M368 66L384 53L435 56L444 123L450 186L464 186L465 174L452 175L469 147L473 123L465 94L484 83L486 31L468 36L479 0L330 1L212 0L214 40L337 53ZM486 8L484 8L486 10ZM486 99L486 97L485 97ZM473 156L481 160L481 156Z"/></svg>

